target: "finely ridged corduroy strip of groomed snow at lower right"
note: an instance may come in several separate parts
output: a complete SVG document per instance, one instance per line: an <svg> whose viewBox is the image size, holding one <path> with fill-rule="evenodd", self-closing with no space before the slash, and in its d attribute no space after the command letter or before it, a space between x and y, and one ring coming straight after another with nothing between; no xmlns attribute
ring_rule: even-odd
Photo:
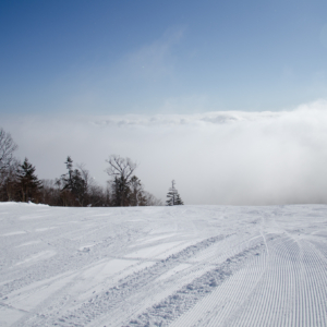
<svg viewBox="0 0 327 327"><path fill-rule="evenodd" d="M223 326L326 326L326 263L289 235L269 247L265 277L238 317Z"/></svg>

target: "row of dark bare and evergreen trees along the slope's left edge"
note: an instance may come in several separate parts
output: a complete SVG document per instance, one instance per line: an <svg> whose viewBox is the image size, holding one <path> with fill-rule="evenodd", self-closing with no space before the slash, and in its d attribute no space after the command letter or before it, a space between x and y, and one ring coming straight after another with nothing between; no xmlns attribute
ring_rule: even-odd
<svg viewBox="0 0 327 327"><path fill-rule="evenodd" d="M27 158L14 157L17 148L10 133L0 128L0 202L33 202L50 206L156 206L162 205L144 190L130 158L110 156L106 187L97 184L83 165L68 156L66 172L55 180L39 180ZM168 196L168 195L167 195ZM181 203L182 204L182 203ZM167 203L167 205L170 205Z"/></svg>

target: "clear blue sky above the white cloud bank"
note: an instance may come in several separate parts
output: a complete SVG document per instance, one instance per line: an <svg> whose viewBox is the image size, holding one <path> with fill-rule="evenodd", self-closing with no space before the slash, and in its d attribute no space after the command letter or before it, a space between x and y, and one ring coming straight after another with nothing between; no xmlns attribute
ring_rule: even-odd
<svg viewBox="0 0 327 327"><path fill-rule="evenodd" d="M1 1L0 112L194 113L327 98L326 1Z"/></svg>

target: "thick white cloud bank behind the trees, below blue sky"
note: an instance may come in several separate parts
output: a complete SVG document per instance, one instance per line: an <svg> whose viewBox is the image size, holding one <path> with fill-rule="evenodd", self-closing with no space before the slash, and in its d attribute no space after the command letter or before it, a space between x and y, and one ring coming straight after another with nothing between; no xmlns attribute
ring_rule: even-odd
<svg viewBox="0 0 327 327"><path fill-rule="evenodd" d="M7 118L17 155L39 178L65 172L68 155L104 183L105 159L140 164L145 189L185 204L327 203L327 102L282 112Z"/></svg>

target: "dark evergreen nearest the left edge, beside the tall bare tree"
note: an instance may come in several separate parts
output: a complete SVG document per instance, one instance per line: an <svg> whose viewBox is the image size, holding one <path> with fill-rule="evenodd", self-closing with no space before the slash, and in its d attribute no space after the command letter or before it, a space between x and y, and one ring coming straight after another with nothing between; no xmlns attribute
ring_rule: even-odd
<svg viewBox="0 0 327 327"><path fill-rule="evenodd" d="M22 202L37 201L41 187L43 183L35 174L35 167L25 158L23 165L19 166L17 172L17 189Z"/></svg>

